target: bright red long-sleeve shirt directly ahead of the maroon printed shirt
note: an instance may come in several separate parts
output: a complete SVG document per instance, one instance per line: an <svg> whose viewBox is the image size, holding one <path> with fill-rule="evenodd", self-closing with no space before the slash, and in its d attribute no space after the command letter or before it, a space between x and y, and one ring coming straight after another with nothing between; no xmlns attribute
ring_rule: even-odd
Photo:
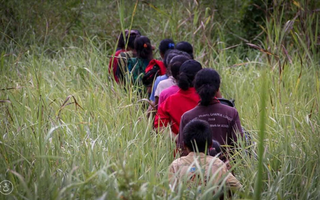
<svg viewBox="0 0 320 200"><path fill-rule="evenodd" d="M200 97L194 87L186 91L180 89L159 106L155 117L155 128L171 123L172 132L178 134L181 116L188 110L195 108L199 101Z"/></svg>

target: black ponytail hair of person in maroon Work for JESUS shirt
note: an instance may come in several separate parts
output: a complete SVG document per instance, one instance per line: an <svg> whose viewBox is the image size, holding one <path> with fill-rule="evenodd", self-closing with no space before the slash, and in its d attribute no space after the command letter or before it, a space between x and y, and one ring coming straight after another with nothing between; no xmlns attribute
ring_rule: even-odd
<svg viewBox="0 0 320 200"><path fill-rule="evenodd" d="M200 104L208 106L220 88L220 75L214 69L200 70L195 78L195 88L201 98Z"/></svg>

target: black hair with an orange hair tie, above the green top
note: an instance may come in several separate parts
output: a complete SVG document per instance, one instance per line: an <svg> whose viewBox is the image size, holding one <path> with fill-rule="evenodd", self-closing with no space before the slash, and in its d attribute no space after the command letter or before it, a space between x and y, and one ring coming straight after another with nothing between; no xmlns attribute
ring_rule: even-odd
<svg viewBox="0 0 320 200"><path fill-rule="evenodd" d="M134 49L138 58L148 59L152 55L151 42L146 36L140 36L134 40Z"/></svg>

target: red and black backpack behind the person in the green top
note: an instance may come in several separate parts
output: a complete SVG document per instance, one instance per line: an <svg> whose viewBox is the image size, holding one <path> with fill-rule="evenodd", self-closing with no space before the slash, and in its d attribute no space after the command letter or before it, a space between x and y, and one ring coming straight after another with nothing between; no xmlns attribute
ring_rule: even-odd
<svg viewBox="0 0 320 200"><path fill-rule="evenodd" d="M149 62L146 68L146 74L142 77L144 85L151 85L157 76L165 75L167 68L160 60L153 59Z"/></svg>

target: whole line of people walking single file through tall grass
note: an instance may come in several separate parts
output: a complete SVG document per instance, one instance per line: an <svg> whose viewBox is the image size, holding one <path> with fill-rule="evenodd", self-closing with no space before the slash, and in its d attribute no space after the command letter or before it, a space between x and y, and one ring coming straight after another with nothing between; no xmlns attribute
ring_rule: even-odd
<svg viewBox="0 0 320 200"><path fill-rule="evenodd" d="M155 47L148 37L138 30L125 30L118 37L118 48L110 59L110 74L117 83L136 85L143 88L141 93L148 92L154 104L150 113L155 114L150 117L156 132L170 127L174 136L177 148L173 155L180 158L170 166L171 183L184 176L193 180L196 172L190 165L198 160L205 173L212 172L218 178L228 174L226 183L240 188L224 162L237 147L238 138L243 138L243 130L236 108L219 100L218 72L194 60L192 45L184 41L175 44L171 39L162 40L158 47L161 58L155 59ZM205 184L207 180L203 181Z"/></svg>

